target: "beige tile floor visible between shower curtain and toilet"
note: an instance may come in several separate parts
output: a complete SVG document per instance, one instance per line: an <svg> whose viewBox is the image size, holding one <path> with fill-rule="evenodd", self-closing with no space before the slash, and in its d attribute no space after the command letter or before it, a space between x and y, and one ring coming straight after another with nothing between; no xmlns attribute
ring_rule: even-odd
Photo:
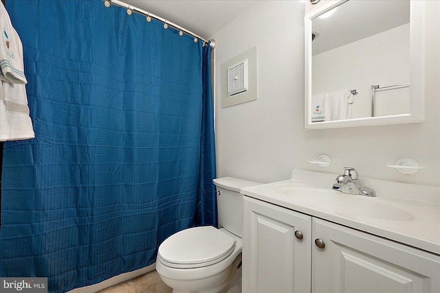
<svg viewBox="0 0 440 293"><path fill-rule="evenodd" d="M147 272L139 277L118 283L109 288L98 291L99 293L171 293L169 288L160 279L155 270Z"/></svg>

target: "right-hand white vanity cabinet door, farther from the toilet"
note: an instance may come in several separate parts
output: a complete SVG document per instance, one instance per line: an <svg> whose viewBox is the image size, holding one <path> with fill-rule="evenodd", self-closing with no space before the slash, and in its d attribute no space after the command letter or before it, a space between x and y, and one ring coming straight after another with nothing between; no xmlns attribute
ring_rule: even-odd
<svg viewBox="0 0 440 293"><path fill-rule="evenodd" d="M438 255L316 218L313 231L312 292L440 292Z"/></svg>

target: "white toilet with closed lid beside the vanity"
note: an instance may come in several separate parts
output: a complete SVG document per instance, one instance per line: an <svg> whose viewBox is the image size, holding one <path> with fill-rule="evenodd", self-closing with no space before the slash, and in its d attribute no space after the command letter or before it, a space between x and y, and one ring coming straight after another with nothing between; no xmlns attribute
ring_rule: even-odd
<svg viewBox="0 0 440 293"><path fill-rule="evenodd" d="M259 185L231 177L214 179L219 225L188 228L159 246L156 270L174 293L241 292L243 198L240 190Z"/></svg>

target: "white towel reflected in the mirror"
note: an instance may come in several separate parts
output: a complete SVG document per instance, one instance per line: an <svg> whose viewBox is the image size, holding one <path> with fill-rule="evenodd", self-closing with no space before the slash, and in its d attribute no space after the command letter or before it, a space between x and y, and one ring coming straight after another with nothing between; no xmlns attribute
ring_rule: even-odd
<svg viewBox="0 0 440 293"><path fill-rule="evenodd" d="M350 90L320 93L311 97L311 121L333 121L351 118L353 94Z"/></svg>

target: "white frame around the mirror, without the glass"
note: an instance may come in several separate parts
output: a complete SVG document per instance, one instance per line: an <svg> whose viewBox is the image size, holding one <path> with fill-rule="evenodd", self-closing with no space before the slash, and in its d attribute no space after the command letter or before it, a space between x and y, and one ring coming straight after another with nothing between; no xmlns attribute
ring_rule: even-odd
<svg viewBox="0 0 440 293"><path fill-rule="evenodd" d="M425 121L425 1L410 0L410 111L406 114L362 117L345 120L311 122L311 32L312 20L349 0L327 0L306 12L304 62L304 126L305 129L345 128L406 124Z"/></svg>

